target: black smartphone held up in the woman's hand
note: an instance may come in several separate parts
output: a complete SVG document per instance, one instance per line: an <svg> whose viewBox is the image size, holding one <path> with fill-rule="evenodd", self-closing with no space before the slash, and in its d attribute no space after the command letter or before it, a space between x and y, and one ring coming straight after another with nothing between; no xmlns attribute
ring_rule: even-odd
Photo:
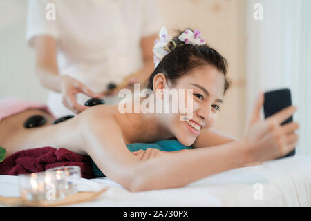
<svg viewBox="0 0 311 221"><path fill-rule="evenodd" d="M263 102L263 113L265 114L265 118L270 117L271 115L274 115L274 113L281 111L283 108L292 105L292 97L290 95L290 89L288 88L270 90L265 92L264 95L265 101ZM291 116L286 119L281 125L287 124L292 121L293 117ZM293 155L295 155L295 149L290 151L290 153L288 153L288 155L285 155L284 157L291 157ZM279 159L281 158L283 157L280 157Z"/></svg>

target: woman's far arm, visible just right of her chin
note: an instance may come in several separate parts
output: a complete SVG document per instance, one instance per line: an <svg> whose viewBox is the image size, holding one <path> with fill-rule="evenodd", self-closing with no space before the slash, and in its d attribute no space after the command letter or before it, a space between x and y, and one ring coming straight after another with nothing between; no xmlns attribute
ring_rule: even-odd
<svg viewBox="0 0 311 221"><path fill-rule="evenodd" d="M198 135L194 144L191 145L192 148L202 148L209 146L217 146L221 144L227 144L229 142L237 141L236 137L227 135L220 131L216 131L214 128L209 128L209 130Z"/></svg>

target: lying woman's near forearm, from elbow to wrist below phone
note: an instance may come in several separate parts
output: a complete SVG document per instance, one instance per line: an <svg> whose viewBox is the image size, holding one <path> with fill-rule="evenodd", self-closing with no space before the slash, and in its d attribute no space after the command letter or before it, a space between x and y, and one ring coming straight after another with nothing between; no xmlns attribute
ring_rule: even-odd
<svg viewBox="0 0 311 221"><path fill-rule="evenodd" d="M243 166L243 142L183 150L143 161L133 191L182 187L204 177Z"/></svg>

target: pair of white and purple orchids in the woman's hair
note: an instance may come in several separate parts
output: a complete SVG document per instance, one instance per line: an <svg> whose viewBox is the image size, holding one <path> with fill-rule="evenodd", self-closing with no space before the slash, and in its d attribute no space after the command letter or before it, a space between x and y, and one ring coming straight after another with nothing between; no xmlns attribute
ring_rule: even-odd
<svg viewBox="0 0 311 221"><path fill-rule="evenodd" d="M185 44L192 44L192 45L203 45L206 44L205 39L200 38L201 32L196 29L194 32L192 32L189 29L186 29L184 32L182 32L181 35L178 36L178 39L182 42L185 42ZM154 42L153 47L153 62L155 63L155 68L158 66L160 61L162 61L163 57L171 50L176 48L176 42L173 40L173 37L169 35L167 32L167 28L164 26L161 28L159 33L160 39L156 39ZM169 43L173 44L173 49L169 49L167 45Z"/></svg>

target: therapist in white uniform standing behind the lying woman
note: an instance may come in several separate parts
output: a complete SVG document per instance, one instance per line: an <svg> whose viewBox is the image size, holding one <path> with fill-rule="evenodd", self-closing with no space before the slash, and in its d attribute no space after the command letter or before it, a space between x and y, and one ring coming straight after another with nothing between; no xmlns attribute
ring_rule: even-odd
<svg viewBox="0 0 311 221"><path fill-rule="evenodd" d="M109 83L123 84L132 73L131 83L147 80L161 26L153 0L29 0L26 41L35 48L39 81L50 89L50 110L77 114Z"/></svg>

